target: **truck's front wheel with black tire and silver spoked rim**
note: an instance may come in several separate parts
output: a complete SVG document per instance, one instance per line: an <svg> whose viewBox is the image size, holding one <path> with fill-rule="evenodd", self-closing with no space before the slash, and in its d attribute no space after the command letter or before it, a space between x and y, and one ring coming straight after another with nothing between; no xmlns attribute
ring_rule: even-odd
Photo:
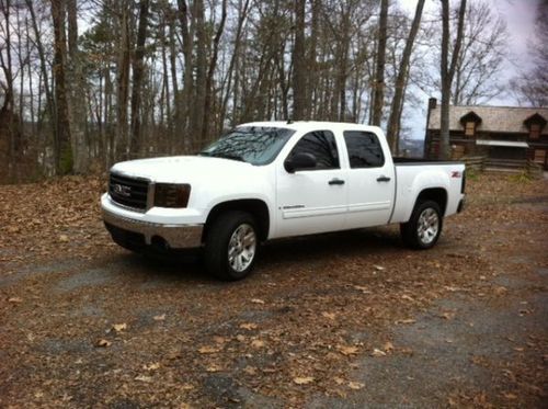
<svg viewBox="0 0 548 409"><path fill-rule="evenodd" d="M253 216L236 211L222 213L208 227L205 266L220 280L241 280L253 270L258 248L259 236Z"/></svg>

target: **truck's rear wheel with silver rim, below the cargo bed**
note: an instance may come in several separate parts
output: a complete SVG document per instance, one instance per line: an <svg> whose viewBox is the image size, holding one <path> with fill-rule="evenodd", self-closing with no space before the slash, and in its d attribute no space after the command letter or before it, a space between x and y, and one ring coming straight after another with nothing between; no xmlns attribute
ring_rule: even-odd
<svg viewBox="0 0 548 409"><path fill-rule="evenodd" d="M418 202L408 223L400 225L403 242L418 250L434 247L442 234L443 217L439 205L434 201Z"/></svg>

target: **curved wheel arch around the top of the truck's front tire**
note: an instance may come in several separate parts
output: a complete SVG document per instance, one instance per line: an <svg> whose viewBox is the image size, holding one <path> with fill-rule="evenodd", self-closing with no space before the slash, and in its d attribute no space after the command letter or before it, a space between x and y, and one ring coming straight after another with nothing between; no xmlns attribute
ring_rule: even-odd
<svg viewBox="0 0 548 409"><path fill-rule="evenodd" d="M221 203L217 203L208 213L207 219L202 234L202 242L205 242L209 227L213 221L222 213L230 211L248 212L255 221L259 229L259 239L265 241L269 238L270 231L270 211L266 203L260 198L239 198Z"/></svg>

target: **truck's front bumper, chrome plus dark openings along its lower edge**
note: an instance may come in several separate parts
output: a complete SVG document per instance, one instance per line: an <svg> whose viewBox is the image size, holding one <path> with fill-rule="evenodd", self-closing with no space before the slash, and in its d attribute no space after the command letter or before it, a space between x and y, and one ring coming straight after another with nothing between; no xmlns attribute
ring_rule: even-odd
<svg viewBox="0 0 548 409"><path fill-rule="evenodd" d="M164 225L135 220L104 208L103 220L116 242L124 235L137 237L145 246L162 246L165 249L192 249L202 246L204 225Z"/></svg>

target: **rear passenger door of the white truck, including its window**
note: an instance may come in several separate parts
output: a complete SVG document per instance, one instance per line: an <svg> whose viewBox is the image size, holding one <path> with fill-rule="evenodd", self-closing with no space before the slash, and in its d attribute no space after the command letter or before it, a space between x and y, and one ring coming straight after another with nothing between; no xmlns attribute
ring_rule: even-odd
<svg viewBox="0 0 548 409"><path fill-rule="evenodd" d="M388 145L373 132L343 133L349 156L347 229L387 224L395 197L395 169Z"/></svg>

